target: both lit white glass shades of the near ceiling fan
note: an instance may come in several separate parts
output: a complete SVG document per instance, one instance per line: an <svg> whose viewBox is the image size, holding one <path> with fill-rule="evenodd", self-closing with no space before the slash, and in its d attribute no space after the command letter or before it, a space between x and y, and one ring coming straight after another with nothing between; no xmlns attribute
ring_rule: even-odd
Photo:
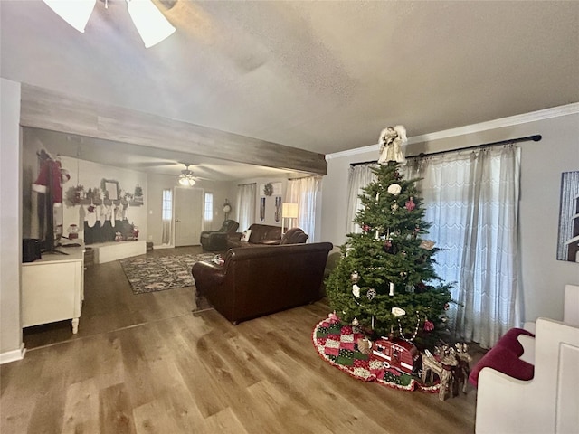
<svg viewBox="0 0 579 434"><path fill-rule="evenodd" d="M126 1L128 14L137 27L145 48L152 47L175 33L175 27L167 21L165 15L161 14L151 0ZM64 21L84 33L97 0L43 0L43 2ZM108 8L108 0L105 7Z"/></svg>

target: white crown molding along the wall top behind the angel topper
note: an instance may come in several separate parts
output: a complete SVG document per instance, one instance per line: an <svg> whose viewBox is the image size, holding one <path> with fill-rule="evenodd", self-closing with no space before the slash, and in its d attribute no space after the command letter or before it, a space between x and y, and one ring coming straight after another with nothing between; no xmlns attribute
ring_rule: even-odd
<svg viewBox="0 0 579 434"><path fill-rule="evenodd" d="M408 137L406 145L430 142L433 140L440 140L442 138L465 136L467 134L489 131L490 129L513 127L515 125L527 124L529 122L536 122L550 118L559 118L561 116L574 115L576 113L579 113L579 102L565 104L565 106L558 106L550 109L531 111L530 113L524 113L522 115L509 116L508 118L489 120L487 122L480 122L479 124L472 124L465 127L445 129L435 133L422 134L422 136ZM365 154L366 152L373 152L375 151L376 146L378 146L377 143L375 145L356 147L346 151L327 154L326 159L331 160L332 158L356 156L359 154Z"/></svg>

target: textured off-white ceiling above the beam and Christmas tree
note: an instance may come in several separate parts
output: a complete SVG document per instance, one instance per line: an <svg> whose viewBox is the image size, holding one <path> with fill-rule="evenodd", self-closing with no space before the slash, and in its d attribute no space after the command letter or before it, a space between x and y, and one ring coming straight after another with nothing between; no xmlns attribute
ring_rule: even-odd
<svg viewBox="0 0 579 434"><path fill-rule="evenodd" d="M579 2L156 3L145 49L124 0L2 0L1 75L322 154L579 101Z"/></svg>

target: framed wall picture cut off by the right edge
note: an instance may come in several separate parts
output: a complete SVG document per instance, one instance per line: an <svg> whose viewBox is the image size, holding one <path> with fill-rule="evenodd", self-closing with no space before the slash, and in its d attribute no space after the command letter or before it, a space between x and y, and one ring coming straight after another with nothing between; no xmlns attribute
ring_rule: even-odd
<svg viewBox="0 0 579 434"><path fill-rule="evenodd" d="M561 175L557 259L579 262L579 171Z"/></svg>

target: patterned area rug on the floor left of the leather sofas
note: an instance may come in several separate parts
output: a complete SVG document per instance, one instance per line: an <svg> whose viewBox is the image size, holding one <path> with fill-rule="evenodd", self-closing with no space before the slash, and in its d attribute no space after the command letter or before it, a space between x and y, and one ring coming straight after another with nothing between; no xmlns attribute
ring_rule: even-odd
<svg viewBox="0 0 579 434"><path fill-rule="evenodd" d="M120 260L135 294L165 291L195 285L191 267L201 260L215 259L214 253L199 255L162 256Z"/></svg>

